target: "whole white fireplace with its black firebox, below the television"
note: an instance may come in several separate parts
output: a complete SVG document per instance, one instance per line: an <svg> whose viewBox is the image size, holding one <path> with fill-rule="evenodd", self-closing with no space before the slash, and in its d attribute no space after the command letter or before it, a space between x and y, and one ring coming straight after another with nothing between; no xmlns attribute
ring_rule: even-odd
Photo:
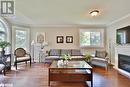
<svg viewBox="0 0 130 87"><path fill-rule="evenodd" d="M118 45L115 47L115 66L118 72L130 78L130 45Z"/></svg>

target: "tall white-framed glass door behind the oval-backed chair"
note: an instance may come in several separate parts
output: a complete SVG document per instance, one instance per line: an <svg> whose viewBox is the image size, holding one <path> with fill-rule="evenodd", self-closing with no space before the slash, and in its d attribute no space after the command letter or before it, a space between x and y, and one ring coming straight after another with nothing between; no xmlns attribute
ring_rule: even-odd
<svg viewBox="0 0 130 87"><path fill-rule="evenodd" d="M30 29L25 27L12 28L12 51L16 48L24 48L27 52L30 51Z"/></svg>

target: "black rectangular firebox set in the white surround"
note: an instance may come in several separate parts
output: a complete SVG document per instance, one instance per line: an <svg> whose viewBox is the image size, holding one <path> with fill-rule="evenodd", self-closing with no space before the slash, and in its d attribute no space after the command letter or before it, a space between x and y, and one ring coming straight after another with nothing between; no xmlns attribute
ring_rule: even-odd
<svg viewBox="0 0 130 87"><path fill-rule="evenodd" d="M118 54L118 68L130 73L130 56Z"/></svg>

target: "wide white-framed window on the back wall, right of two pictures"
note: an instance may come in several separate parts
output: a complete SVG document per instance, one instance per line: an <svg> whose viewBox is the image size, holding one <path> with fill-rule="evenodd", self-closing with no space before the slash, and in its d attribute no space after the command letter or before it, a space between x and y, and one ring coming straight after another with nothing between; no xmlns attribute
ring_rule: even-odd
<svg viewBox="0 0 130 87"><path fill-rule="evenodd" d="M104 29L81 29L80 47L104 47Z"/></svg>

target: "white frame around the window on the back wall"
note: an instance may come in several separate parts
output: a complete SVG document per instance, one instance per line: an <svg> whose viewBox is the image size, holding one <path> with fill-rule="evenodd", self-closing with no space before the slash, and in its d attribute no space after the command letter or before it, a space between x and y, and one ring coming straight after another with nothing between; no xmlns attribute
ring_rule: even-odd
<svg viewBox="0 0 130 87"><path fill-rule="evenodd" d="M80 48L104 48L104 44L105 44L105 35L104 35L104 29L85 29L85 28L82 28L79 30L79 46ZM81 43L80 43L80 34L81 32L100 32L101 35L100 35L100 38L101 38L101 45L98 46L98 45L85 45L85 46L82 46Z"/></svg>

